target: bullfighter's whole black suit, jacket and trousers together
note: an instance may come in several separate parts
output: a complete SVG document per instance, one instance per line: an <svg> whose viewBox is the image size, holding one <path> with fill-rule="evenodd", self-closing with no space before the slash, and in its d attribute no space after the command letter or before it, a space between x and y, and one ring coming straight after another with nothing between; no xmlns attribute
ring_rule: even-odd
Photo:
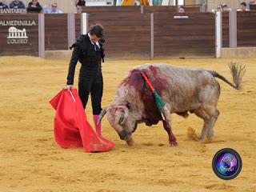
<svg viewBox="0 0 256 192"><path fill-rule="evenodd" d="M70 59L69 72L67 75L67 85L74 84L74 71L77 62L81 62L78 79L78 94L82 101L82 106L86 108L89 94L91 95L93 114L100 114L102 110L102 62L104 62L104 40L99 41L98 47L90 41L89 34L81 35L70 47L74 47Z"/></svg>

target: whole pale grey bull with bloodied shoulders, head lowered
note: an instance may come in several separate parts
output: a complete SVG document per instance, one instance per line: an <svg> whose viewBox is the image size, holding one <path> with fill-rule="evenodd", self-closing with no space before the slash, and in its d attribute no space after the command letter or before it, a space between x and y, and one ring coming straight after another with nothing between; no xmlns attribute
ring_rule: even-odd
<svg viewBox="0 0 256 192"><path fill-rule="evenodd" d="M104 108L98 123L107 114L110 125L119 137L128 145L133 144L132 134L138 123L145 122L152 126L162 121L169 136L170 146L177 146L171 130L170 114L186 118L190 112L202 118L204 123L198 138L212 138L214 124L219 111L216 108L220 95L220 85L215 78L220 78L234 89L241 88L244 66L230 65L234 82L213 70L202 68L178 67L166 64L144 64L130 70L116 90L113 102ZM155 90L165 102L163 115L160 114L150 87L142 77L142 72L150 79Z"/></svg>

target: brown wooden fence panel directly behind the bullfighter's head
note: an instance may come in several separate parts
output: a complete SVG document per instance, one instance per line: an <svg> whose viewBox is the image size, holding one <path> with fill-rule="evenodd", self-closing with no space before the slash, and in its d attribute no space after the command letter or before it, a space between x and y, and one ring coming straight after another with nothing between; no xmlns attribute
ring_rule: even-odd
<svg viewBox="0 0 256 192"><path fill-rule="evenodd" d="M114 58L150 57L150 14L102 12L89 15L89 25L105 27L106 55Z"/></svg>

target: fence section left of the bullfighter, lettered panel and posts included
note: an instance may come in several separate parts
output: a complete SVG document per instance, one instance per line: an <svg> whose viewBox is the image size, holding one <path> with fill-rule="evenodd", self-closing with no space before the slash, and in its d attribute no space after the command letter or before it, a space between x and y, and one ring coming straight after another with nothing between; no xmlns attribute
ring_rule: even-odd
<svg viewBox="0 0 256 192"><path fill-rule="evenodd" d="M86 33L83 15L0 14L0 55L44 58L45 50L68 50L78 34Z"/></svg>

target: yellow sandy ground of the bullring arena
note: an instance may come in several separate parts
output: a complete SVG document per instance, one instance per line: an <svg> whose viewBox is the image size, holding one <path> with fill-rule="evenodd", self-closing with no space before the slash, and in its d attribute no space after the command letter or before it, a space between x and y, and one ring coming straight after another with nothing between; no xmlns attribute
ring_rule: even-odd
<svg viewBox="0 0 256 192"><path fill-rule="evenodd" d="M231 80L228 63L232 59L158 59L107 61L103 64L102 106L127 72L146 62L202 66L217 70ZM66 60L31 57L0 58L0 192L7 191L256 191L256 59L238 59L246 65L243 89L221 84L220 116L214 127L214 141L196 142L187 129L197 134L202 120L172 115L178 147L170 147L166 131L157 126L138 126L134 146L118 138L106 118L102 129L114 141L114 150L86 154L82 149L62 149L53 138L53 98L66 84ZM78 64L79 67L79 64ZM77 67L77 72L78 72ZM75 86L78 73L75 76ZM86 114L92 121L90 102ZM225 147L242 157L237 178L224 181L211 167L214 154Z"/></svg>

